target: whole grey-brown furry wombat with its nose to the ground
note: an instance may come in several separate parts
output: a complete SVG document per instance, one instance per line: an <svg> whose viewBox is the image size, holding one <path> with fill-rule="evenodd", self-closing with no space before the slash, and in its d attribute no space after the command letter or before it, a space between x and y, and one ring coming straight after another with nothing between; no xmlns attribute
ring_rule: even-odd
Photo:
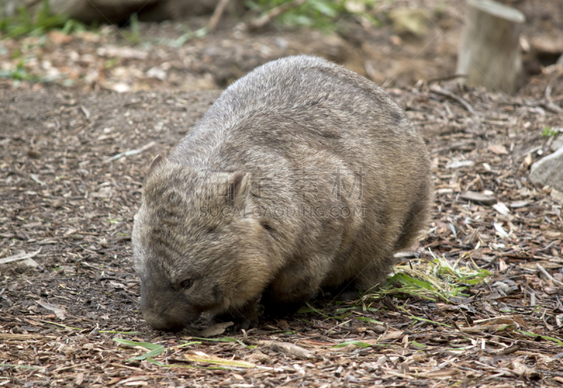
<svg viewBox="0 0 563 388"><path fill-rule="evenodd" d="M312 56L229 86L151 163L133 229L141 311L158 330L201 313L236 328L321 287L367 290L425 228L431 167L398 105Z"/></svg>

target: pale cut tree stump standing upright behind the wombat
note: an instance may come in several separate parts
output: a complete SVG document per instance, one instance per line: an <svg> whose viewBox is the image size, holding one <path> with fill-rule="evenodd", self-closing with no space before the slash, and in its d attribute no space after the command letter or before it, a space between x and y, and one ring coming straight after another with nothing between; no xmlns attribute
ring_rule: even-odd
<svg viewBox="0 0 563 388"><path fill-rule="evenodd" d="M514 94L522 72L519 34L526 20L515 8L472 0L457 56L460 82Z"/></svg>

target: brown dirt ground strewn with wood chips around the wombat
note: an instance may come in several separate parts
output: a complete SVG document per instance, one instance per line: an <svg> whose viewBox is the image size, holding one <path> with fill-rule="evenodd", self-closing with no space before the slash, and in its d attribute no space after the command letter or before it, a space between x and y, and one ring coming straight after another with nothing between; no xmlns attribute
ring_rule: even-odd
<svg viewBox="0 0 563 388"><path fill-rule="evenodd" d="M545 4L557 11L557 2ZM455 8L447 8L444 22L456 25L459 15L451 17ZM538 20L559 25L563 13L555 11L550 18L539 13ZM545 128L563 132L563 67L540 63L540 73L509 97L432 82L455 69L455 51L442 56L437 44L424 54L427 63L413 65L416 73L406 62L366 59L365 47L377 48L374 39L350 44L298 31L237 35L236 23L228 23L193 44L146 49L144 58L135 58L145 55L137 51L113 59L100 53L126 44L111 33L44 46L1 41L8 50L19 45L27 54L40 52L37 63L50 63L30 65L28 72L56 69L64 77L0 84L0 260L27 257L0 264L0 386L561 386L563 194L533 186L529 167L555 141L543 136ZM143 28L149 36L177 37L174 25ZM381 58L417 60L404 51L420 46L412 37L391 38L399 36L388 26L370 33L387 39L374 49L387 53ZM529 32L529 40L540 33ZM449 35L441 39L455 46ZM152 330L139 313L130 245L148 164L189 132L219 96L218 86L278 54L311 52L303 47L348 61L385 84L428 144L433 220L396 273L431 272L436 267L429 262L438 258L488 276L462 281L466 294L446 299L410 294L400 283L362 301L317 299L303 312L260 321L243 334L201 332L203 323L176 334ZM81 62L89 53L97 54ZM366 67L369 60L375 65ZM154 67L165 70L165 79L146 77ZM382 72L381 79L369 68ZM86 75L94 70L90 82ZM74 85L62 86L64 79ZM419 79L425 82L415 86ZM141 151L127 153L132 150ZM468 200L468 192L486 198ZM163 349L137 357L148 350L115 340Z"/></svg>

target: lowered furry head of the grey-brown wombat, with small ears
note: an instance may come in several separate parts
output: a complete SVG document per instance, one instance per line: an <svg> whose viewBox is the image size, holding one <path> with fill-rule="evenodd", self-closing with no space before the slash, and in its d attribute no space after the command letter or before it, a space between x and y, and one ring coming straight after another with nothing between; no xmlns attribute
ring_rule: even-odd
<svg viewBox="0 0 563 388"><path fill-rule="evenodd" d="M132 236L141 312L153 328L181 330L203 312L237 309L272 278L270 235L243 209L247 181L153 160Z"/></svg>

